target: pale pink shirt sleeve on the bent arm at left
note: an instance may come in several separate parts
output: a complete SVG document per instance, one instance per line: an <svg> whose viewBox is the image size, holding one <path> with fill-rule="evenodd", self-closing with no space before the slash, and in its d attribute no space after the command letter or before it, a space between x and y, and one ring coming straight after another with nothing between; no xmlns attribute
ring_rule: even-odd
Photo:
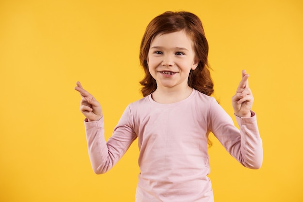
<svg viewBox="0 0 303 202"><path fill-rule="evenodd" d="M109 171L136 140L131 117L128 106L107 142L104 137L104 117L99 121L85 121L89 157L96 174Z"/></svg>

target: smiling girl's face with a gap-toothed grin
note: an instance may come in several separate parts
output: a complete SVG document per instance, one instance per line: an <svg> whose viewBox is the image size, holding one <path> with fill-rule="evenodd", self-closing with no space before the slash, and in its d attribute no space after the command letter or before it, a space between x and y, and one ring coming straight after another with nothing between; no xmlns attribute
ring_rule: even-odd
<svg viewBox="0 0 303 202"><path fill-rule="evenodd" d="M189 72L197 68L198 60L192 40L181 30L156 35L151 42L147 63L157 89L181 89L188 86Z"/></svg>

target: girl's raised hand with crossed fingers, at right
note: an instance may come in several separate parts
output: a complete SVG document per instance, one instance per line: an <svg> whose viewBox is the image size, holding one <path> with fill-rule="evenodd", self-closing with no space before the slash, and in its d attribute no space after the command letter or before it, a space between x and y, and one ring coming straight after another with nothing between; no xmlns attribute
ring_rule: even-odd
<svg viewBox="0 0 303 202"><path fill-rule="evenodd" d="M231 99L235 115L239 117L251 117L254 97L248 87L248 77L249 75L246 71L242 70L242 80L237 88L236 94Z"/></svg>

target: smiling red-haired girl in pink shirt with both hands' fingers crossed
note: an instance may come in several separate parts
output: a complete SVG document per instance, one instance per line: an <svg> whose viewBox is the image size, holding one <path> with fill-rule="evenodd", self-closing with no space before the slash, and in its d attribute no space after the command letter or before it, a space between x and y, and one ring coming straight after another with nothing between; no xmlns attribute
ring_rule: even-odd
<svg viewBox="0 0 303 202"><path fill-rule="evenodd" d="M80 111L91 165L97 174L111 169L138 138L136 202L213 202L207 152L212 132L243 166L260 168L262 141L248 74L232 97L240 131L210 97L208 43L201 21L188 12L166 12L147 26L140 46L144 98L125 109L106 143L101 106L77 82Z"/></svg>

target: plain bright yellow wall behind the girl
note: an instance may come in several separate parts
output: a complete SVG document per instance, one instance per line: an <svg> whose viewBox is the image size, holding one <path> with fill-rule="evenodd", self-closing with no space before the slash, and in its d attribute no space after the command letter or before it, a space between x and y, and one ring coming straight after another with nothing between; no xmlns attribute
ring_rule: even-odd
<svg viewBox="0 0 303 202"><path fill-rule="evenodd" d="M1 202L134 201L137 142L94 174L74 86L81 81L101 102L107 139L141 98L139 43L167 10L201 18L214 96L230 115L241 70L251 75L263 166L242 167L212 136L215 201L303 201L302 0L1 0Z"/></svg>

